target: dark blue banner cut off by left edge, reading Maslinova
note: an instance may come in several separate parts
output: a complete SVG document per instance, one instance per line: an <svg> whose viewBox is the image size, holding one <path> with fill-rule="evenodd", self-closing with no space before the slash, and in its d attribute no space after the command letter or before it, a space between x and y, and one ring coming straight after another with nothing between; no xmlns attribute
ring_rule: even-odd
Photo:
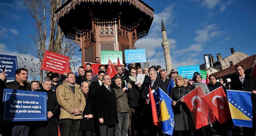
<svg viewBox="0 0 256 136"><path fill-rule="evenodd" d="M0 54L0 73L2 73L4 66L6 66L7 80L14 80L15 71L18 69L17 56L2 55Z"/></svg>

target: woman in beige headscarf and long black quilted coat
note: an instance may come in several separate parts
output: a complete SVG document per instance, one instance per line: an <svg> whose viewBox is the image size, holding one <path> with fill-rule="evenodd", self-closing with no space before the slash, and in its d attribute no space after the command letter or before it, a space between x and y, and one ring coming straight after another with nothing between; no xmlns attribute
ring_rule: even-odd
<svg viewBox="0 0 256 136"><path fill-rule="evenodd" d="M170 98L173 100L172 109L175 120L173 136L194 136L194 118L188 106L181 99L191 90L188 87L184 87L183 83L184 81L181 76L175 77L176 87L172 88L169 93ZM181 100L178 101L179 99Z"/></svg>

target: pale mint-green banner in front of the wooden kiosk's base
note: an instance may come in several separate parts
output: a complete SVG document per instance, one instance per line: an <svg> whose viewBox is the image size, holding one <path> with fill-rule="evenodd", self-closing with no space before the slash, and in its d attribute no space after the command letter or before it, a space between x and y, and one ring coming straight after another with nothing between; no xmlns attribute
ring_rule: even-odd
<svg viewBox="0 0 256 136"><path fill-rule="evenodd" d="M102 65L108 65L108 59L112 63L117 64L117 58L119 57L121 65L123 64L123 53L122 51L101 51L100 63Z"/></svg>

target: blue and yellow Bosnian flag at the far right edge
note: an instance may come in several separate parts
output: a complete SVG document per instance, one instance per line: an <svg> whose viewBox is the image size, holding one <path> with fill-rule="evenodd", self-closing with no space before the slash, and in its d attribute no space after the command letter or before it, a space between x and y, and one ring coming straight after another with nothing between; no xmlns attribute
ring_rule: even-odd
<svg viewBox="0 0 256 136"><path fill-rule="evenodd" d="M252 128L251 92L227 90L228 105L234 126Z"/></svg>

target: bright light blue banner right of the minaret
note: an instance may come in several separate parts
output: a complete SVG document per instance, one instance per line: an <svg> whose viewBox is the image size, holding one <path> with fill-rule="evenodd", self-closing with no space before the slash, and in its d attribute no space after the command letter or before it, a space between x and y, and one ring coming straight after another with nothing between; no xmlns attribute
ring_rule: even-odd
<svg viewBox="0 0 256 136"><path fill-rule="evenodd" d="M199 72L200 73L199 65L178 67L178 73L183 78L187 77L187 79L192 79L193 78L193 74L195 72Z"/></svg>

